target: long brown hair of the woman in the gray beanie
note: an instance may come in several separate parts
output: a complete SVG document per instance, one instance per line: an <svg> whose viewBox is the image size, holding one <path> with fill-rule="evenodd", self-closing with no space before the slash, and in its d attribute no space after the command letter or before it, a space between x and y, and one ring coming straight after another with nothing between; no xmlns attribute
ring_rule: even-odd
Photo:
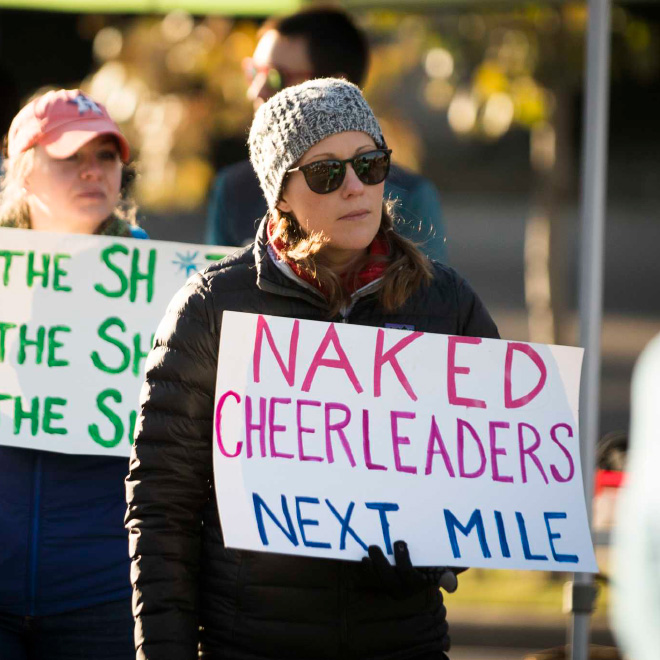
<svg viewBox="0 0 660 660"><path fill-rule="evenodd" d="M422 284L430 283L433 274L427 257L415 243L396 232L394 223L393 204L383 202L379 233L389 244L389 255L365 254L342 277L323 263L327 237L319 233L305 234L291 214L279 209L271 212L271 241L278 245L278 251L287 261L294 262L304 275L318 283L330 307L329 317L336 316L343 307L348 306L350 293L345 283L357 284L358 275L369 260L388 262L378 296L385 311L395 312Z"/></svg>

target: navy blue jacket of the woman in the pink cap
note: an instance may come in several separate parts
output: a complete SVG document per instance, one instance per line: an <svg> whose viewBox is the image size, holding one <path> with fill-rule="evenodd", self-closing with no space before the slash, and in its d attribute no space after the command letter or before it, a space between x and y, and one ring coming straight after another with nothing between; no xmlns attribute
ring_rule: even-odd
<svg viewBox="0 0 660 660"><path fill-rule="evenodd" d="M146 238L138 227L131 236ZM48 616L130 598L127 470L126 458L0 446L0 612Z"/></svg>

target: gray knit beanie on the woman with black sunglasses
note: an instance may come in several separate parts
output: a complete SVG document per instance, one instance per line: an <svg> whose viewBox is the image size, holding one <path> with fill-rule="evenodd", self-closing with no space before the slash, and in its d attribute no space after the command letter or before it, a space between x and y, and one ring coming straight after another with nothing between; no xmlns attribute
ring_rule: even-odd
<svg viewBox="0 0 660 660"><path fill-rule="evenodd" d="M250 162L269 209L280 199L287 170L317 142L345 131L362 131L376 146L387 146L360 89L339 78L286 87L257 110L250 129Z"/></svg>

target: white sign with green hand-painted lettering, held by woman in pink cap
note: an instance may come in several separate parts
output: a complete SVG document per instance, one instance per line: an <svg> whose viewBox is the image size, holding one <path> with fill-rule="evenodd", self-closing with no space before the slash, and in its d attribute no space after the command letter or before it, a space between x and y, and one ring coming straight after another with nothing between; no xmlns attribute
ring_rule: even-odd
<svg viewBox="0 0 660 660"><path fill-rule="evenodd" d="M0 228L0 445L128 456L167 303L235 249Z"/></svg>

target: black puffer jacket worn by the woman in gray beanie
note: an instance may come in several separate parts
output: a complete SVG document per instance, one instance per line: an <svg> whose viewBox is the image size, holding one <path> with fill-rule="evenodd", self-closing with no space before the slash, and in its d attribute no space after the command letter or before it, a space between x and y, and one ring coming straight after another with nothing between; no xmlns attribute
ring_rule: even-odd
<svg viewBox="0 0 660 660"><path fill-rule="evenodd" d="M434 281L398 312L378 284L344 318L443 334L497 337L470 286L434 263ZM212 419L224 310L328 320L321 295L269 254L265 226L245 248L191 278L147 361L127 479L138 658L273 660L442 657L437 588L397 601L365 584L359 563L229 550L212 478Z"/></svg>

